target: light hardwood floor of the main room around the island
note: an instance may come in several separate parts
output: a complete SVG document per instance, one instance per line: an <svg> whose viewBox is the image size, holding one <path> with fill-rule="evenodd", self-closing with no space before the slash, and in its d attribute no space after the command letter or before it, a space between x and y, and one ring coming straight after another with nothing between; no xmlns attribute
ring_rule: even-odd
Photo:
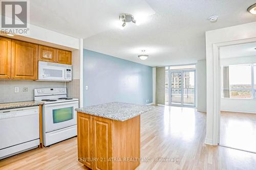
<svg viewBox="0 0 256 170"><path fill-rule="evenodd" d="M156 106L141 115L142 160L136 169L255 169L256 154L206 145L205 130L205 113L194 108ZM74 137L50 148L0 160L0 169L87 168L77 161Z"/></svg>

